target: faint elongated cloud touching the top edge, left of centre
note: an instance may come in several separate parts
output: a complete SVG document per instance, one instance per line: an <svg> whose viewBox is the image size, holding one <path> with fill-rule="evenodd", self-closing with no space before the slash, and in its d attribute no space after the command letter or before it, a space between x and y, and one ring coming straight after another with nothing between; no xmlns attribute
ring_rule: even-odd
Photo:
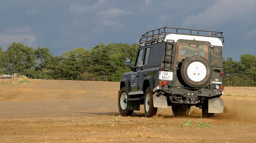
<svg viewBox="0 0 256 143"><path fill-rule="evenodd" d="M72 11L75 14L81 14L88 10L96 9L104 3L105 3L105 0L99 0L97 3L93 5L71 4L69 7L69 11Z"/></svg>

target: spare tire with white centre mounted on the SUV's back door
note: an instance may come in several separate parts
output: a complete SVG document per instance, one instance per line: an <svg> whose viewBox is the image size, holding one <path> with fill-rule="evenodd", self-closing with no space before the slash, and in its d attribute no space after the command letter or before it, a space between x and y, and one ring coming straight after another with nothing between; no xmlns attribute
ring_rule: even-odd
<svg viewBox="0 0 256 143"><path fill-rule="evenodd" d="M188 56L180 64L180 76L185 86L204 87L212 78L212 67L203 56Z"/></svg>

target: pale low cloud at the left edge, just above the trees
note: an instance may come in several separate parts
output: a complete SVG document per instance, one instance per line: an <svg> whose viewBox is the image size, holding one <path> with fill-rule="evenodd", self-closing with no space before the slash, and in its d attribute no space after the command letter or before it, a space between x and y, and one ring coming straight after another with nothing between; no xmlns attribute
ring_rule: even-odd
<svg viewBox="0 0 256 143"><path fill-rule="evenodd" d="M36 43L36 36L32 34L7 35L0 34L0 43L11 44L12 42L22 42L25 45L32 46Z"/></svg>

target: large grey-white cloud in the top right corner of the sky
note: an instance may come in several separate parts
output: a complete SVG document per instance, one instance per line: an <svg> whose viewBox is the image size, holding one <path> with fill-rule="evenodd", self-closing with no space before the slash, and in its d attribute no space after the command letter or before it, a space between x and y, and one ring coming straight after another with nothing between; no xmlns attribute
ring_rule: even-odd
<svg viewBox="0 0 256 143"><path fill-rule="evenodd" d="M237 21L248 22L255 16L255 0L215 0L214 4L197 15L190 15L183 26L220 26Z"/></svg>

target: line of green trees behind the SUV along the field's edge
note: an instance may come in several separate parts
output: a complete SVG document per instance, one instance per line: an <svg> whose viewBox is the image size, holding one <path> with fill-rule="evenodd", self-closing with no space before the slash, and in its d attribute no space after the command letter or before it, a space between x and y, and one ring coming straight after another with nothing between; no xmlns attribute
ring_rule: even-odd
<svg viewBox="0 0 256 143"><path fill-rule="evenodd" d="M33 79L121 81L122 74L130 71L125 58L133 59L137 49L137 44L110 43L53 56L49 48L33 49L13 42L6 51L0 47L0 73L20 73ZM223 67L225 86L256 86L256 56L243 54L239 62L228 57Z"/></svg>

